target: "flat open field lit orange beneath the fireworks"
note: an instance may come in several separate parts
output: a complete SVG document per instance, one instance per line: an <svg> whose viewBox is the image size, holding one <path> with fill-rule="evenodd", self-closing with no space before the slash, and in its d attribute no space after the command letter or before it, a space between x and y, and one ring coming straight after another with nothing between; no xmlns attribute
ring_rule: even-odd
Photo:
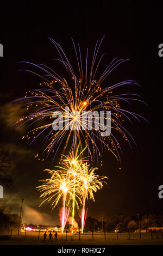
<svg viewBox="0 0 163 256"><path fill-rule="evenodd" d="M17 230L12 231L12 237L10 240L0 240L0 245L163 245L162 234L160 232L156 233L142 233L141 239L139 233L130 233L130 240L128 233L118 233L118 240L116 233L84 233L66 234L58 233L57 242L55 236L52 242L49 242L49 237L47 233L46 241L43 241L44 232L38 231L27 231L26 237L25 233L21 232L17 235Z"/></svg>

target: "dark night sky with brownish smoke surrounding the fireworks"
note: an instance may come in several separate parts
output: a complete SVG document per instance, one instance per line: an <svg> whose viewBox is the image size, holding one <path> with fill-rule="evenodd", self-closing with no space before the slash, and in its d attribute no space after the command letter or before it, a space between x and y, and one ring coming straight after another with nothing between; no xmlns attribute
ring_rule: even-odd
<svg viewBox="0 0 163 256"><path fill-rule="evenodd" d="M101 220L109 214L162 213L163 199L158 198L162 175L162 68L163 58L158 56L162 39L163 6L157 1L53 1L39 6L26 1L5 5L1 10L0 43L4 47L1 64L1 148L7 151L13 167L10 172L12 185L4 188L4 204L13 212L20 211L24 198L24 222L57 224L59 207L49 213L49 205L39 208L41 202L35 187L38 180L45 179L46 168L53 168L51 160L38 162L34 159L39 144L29 146L21 137L26 127L16 131L12 122L21 117L22 111L10 102L24 95L26 90L39 87L40 80L22 69L21 61L44 63L55 68L53 59L57 52L48 36L64 48L70 59L74 58L71 36L79 42L82 51L86 47L93 52L97 39L105 35L100 53L106 53L104 67L115 57L129 58L121 65L110 81L136 80L145 105L133 103L132 109L143 115L145 121L134 121L128 126L137 147L133 149L122 143L120 163L108 153L103 154L103 166L98 173L107 175L108 186L97 192L96 203L89 202L88 215ZM23 66L24 67L24 66ZM103 68L104 68L103 67Z"/></svg>

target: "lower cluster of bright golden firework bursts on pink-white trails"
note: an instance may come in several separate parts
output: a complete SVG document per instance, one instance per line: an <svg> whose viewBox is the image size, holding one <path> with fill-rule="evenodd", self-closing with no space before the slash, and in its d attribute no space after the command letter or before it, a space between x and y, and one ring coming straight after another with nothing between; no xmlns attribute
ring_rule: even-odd
<svg viewBox="0 0 163 256"><path fill-rule="evenodd" d="M87 162L80 159L82 152L77 155L71 153L69 156L64 156L62 160L62 167L59 170L46 170L51 179L43 180L43 185L37 187L40 192L43 192L40 197L46 198L41 205L46 201L52 200L52 210L62 199L61 209L61 225L62 232L68 216L70 215L70 208L72 203L72 233L73 233L73 221L74 221L74 208L79 204L82 205L82 233L85 224L86 211L85 203L86 199L94 199L94 192L101 190L103 184L106 183L104 179L106 176L99 176L95 174L97 168L90 168Z"/></svg>

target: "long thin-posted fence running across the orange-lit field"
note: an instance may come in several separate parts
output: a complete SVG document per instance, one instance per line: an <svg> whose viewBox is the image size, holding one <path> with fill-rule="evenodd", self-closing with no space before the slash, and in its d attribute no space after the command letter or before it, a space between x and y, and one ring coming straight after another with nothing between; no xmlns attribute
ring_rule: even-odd
<svg viewBox="0 0 163 256"><path fill-rule="evenodd" d="M28 231L28 230L23 230L20 232L19 235L17 235L17 229L11 229L10 232L7 231L6 233L3 233L3 235L7 236L8 239L18 239L18 240L32 240L32 241L43 241L45 237L43 234L45 231L38 230L38 231ZM126 232L126 233L108 233L108 232L103 232L103 233L98 233L95 231L87 232L87 233L57 233L57 237L55 237L55 231L51 231L52 237L51 240L49 239L49 231L46 231L46 241L56 241L57 240L85 240L85 241L90 241L90 240L143 240L143 239L163 239L163 234L162 230L149 230L148 232L143 232L139 230L139 232L134 233L134 232ZM2 236L2 234L0 235Z"/></svg>

